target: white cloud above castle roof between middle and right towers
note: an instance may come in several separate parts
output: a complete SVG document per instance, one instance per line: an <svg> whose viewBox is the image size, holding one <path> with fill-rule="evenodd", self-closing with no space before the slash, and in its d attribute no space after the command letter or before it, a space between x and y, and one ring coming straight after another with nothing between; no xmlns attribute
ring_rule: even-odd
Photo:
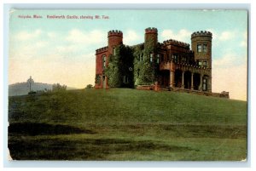
<svg viewBox="0 0 256 171"><path fill-rule="evenodd" d="M188 42L191 37L191 31L188 31L186 29L179 30L177 32L172 30L164 30L160 33L160 36L164 39L176 39L178 41Z"/></svg>

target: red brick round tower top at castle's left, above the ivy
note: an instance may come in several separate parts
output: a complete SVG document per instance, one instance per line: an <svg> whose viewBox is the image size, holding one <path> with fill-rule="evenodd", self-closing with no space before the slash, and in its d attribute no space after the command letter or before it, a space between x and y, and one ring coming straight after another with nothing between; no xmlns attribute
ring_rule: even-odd
<svg viewBox="0 0 256 171"><path fill-rule="evenodd" d="M123 32L122 31L108 31L108 52L109 54L115 54L115 48L123 44Z"/></svg>

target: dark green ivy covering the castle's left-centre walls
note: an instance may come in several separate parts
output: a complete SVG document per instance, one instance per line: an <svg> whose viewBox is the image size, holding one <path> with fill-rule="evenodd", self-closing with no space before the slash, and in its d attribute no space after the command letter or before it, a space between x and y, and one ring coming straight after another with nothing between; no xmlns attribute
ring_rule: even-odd
<svg viewBox="0 0 256 171"><path fill-rule="evenodd" d="M112 88L134 88L137 85L151 85L158 79L159 45L154 37L145 43L132 47L119 45L108 58L105 74L108 86ZM159 61L159 60L158 60Z"/></svg>

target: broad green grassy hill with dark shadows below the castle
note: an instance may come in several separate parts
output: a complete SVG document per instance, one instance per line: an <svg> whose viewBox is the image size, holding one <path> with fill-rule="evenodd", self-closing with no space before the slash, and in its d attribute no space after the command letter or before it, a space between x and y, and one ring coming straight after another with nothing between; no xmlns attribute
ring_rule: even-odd
<svg viewBox="0 0 256 171"><path fill-rule="evenodd" d="M129 88L9 97L9 150L32 160L242 160L247 102Z"/></svg>

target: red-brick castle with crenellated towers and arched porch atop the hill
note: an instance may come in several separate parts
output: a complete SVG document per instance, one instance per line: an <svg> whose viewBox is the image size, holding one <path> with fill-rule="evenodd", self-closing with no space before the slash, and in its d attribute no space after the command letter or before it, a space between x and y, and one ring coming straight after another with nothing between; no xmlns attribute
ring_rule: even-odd
<svg viewBox="0 0 256 171"><path fill-rule="evenodd" d="M133 50L133 64L129 67L132 77L122 76L122 81L136 88L169 90L186 90L212 94L212 33L195 31L189 43L169 39L158 42L156 28L145 29L144 43L130 46ZM108 46L96 49L96 84L95 88L109 88L109 56L116 54L116 49L123 45L122 31L108 31ZM137 51L137 49L140 49ZM135 52L136 51L136 52ZM140 82L139 77L145 72L143 66L149 64L154 68L153 79ZM128 68L127 68L128 70ZM228 92L222 95L228 97Z"/></svg>

